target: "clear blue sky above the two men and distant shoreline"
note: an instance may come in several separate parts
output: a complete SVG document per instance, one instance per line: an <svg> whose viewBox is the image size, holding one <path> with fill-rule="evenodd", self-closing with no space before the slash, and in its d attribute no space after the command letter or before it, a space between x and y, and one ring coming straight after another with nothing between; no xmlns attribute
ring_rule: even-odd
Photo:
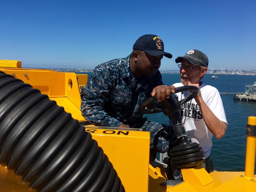
<svg viewBox="0 0 256 192"><path fill-rule="evenodd" d="M209 68L256 69L256 0L0 0L0 59L23 67L93 69L123 58L143 34L166 52L160 70L191 49Z"/></svg>

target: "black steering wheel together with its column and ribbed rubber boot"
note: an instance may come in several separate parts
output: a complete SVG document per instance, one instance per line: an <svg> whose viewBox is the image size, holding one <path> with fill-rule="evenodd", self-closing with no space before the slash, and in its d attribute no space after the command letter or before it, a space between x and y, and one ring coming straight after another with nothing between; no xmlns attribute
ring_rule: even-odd
<svg viewBox="0 0 256 192"><path fill-rule="evenodd" d="M183 123L180 119L180 111L182 110L181 105L185 102L192 100L196 97L199 92L199 88L196 86L183 86L178 87L175 93L182 91L190 91L190 94L181 101L178 101L177 97L170 97L169 99L161 101L159 104L160 108L147 108L157 100L157 97L150 97L148 100L143 102L140 106L140 111L145 114L153 114L163 112L173 123L173 129L179 140L180 145L173 147L169 152L171 158L171 164L178 168L190 168L198 166L204 162L204 152L199 147L198 143L191 143L187 140L186 131Z"/></svg>

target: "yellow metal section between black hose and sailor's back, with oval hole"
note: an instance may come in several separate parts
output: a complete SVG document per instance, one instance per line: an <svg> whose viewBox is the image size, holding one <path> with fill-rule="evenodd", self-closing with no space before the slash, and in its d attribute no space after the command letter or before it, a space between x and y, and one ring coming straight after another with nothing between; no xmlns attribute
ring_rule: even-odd
<svg viewBox="0 0 256 192"><path fill-rule="evenodd" d="M47 69L10 69L2 68L6 74L19 78L24 83L32 85L40 90L42 94L48 95L51 100L55 100L59 106L64 107L66 112L71 113L74 119L84 121L81 115L81 97L78 81L85 83L88 75L76 73L57 72Z"/></svg>

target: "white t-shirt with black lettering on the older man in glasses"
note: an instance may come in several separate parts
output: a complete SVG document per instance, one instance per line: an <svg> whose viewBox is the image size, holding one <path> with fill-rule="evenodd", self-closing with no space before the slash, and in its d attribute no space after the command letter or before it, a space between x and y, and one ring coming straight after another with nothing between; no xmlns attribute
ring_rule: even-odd
<svg viewBox="0 0 256 192"><path fill-rule="evenodd" d="M183 86L182 83L173 84L175 87ZM218 90L210 85L202 83L200 86L201 96L204 102L207 104L213 114L220 120L227 123L225 111L223 108L222 100ZM178 100L183 100L190 92L178 92ZM212 142L211 138L213 134L208 130L204 123L201 110L197 102L192 99L191 103L186 102L182 105L181 120L184 123L184 127L190 134L192 142L197 142L202 147L204 152L204 158L209 157L211 153ZM172 122L170 120L170 125Z"/></svg>

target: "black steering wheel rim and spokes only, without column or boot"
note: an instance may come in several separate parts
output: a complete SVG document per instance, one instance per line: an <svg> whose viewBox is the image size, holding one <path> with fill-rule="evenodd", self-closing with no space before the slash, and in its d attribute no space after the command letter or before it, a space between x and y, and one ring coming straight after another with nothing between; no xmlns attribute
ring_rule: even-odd
<svg viewBox="0 0 256 192"><path fill-rule="evenodd" d="M183 91L190 91L190 94L188 94L187 97L185 97L185 99L180 100L180 101L178 101L178 100L174 101L171 97L169 99L161 101L162 109L163 108L172 108L173 104L176 104L176 105L180 106L183 103L192 100L194 97L197 96L197 93L199 92L199 88L197 88L196 86L193 86L193 85L182 86L182 87L176 88L175 93L183 92ZM148 108L148 106L150 104L152 104L153 102L155 102L156 100L157 100L157 97L155 96L155 97L150 97L148 100L143 102L140 105L140 112L145 113L145 114L154 114L154 113L162 112L163 110L160 109L160 108L157 108L157 107L155 107L153 109ZM171 102L171 100L173 100L174 103Z"/></svg>

